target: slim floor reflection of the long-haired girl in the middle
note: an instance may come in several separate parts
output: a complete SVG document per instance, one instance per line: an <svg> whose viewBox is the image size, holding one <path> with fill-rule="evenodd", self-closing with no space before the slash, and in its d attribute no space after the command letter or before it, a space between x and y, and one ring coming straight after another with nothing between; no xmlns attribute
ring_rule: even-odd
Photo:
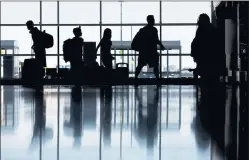
<svg viewBox="0 0 249 160"><path fill-rule="evenodd" d="M112 87L101 88L101 104L103 105L103 142L105 146L111 145L112 121Z"/></svg>

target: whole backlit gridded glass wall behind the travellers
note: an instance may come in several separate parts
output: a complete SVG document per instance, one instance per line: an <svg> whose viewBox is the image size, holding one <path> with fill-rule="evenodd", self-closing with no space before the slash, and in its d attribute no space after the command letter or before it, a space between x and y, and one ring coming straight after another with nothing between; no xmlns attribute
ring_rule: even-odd
<svg viewBox="0 0 249 160"><path fill-rule="evenodd" d="M14 40L13 52L1 51L1 77L4 77L3 61L6 55L14 56L15 61L23 62L33 56L32 39L26 28L26 21L33 20L41 30L54 37L53 48L47 49L48 67L70 67L63 60L63 41L73 37L73 28L81 26L85 41L97 44L105 28L112 30L113 41L131 41L137 31L146 25L146 16L154 15L156 28L162 41L180 41L178 50L160 52L162 77L192 76L186 69L194 68L190 57L190 44L195 36L199 14L211 17L211 2L0 2L0 38ZM1 47L2 50L4 47ZM115 56L113 66L119 62L129 64L130 76L134 76L137 53L134 51L112 51ZM100 63L99 52L97 61ZM15 63L15 65L18 65ZM20 67L18 65L17 67ZM147 67L144 67L147 72ZM6 71L5 71L6 72ZM18 70L12 78L18 77Z"/></svg>

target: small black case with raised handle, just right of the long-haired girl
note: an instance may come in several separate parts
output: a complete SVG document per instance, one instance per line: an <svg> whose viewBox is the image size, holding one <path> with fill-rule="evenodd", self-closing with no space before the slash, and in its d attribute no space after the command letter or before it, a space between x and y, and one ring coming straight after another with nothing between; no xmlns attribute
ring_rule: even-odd
<svg viewBox="0 0 249 160"><path fill-rule="evenodd" d="M123 66L121 66L123 65ZM115 78L128 79L129 78L129 65L128 63L117 63L115 69Z"/></svg>

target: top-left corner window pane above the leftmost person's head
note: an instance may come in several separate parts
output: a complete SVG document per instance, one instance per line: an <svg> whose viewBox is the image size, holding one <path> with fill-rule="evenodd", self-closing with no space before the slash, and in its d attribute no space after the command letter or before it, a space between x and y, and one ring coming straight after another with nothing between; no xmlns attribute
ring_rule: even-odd
<svg viewBox="0 0 249 160"><path fill-rule="evenodd" d="M1 23L25 24L33 20L35 24L40 22L39 2L2 2Z"/></svg>

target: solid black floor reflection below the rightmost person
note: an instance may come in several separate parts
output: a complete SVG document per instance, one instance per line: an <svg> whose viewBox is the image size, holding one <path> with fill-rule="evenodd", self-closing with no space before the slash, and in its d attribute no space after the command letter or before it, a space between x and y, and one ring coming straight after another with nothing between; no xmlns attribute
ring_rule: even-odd
<svg viewBox="0 0 249 160"><path fill-rule="evenodd" d="M220 83L205 84L201 86L201 102L199 117L202 126L217 143L218 148L224 152L225 130L225 85Z"/></svg>

